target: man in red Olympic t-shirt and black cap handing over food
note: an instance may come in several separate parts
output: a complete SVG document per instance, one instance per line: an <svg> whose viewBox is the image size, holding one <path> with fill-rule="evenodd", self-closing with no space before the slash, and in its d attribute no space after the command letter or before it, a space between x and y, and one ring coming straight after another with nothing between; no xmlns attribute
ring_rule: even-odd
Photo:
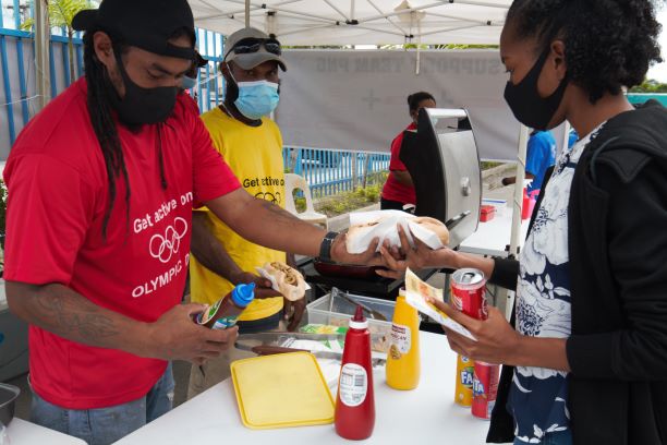
<svg viewBox="0 0 667 445"><path fill-rule="evenodd" d="M171 408L170 360L203 363L237 337L180 304L193 207L271 249L373 253L350 255L342 237L240 188L180 93L194 60L186 0L105 0L73 25L85 79L28 123L4 170L4 278L31 324L33 421L107 444Z"/></svg>

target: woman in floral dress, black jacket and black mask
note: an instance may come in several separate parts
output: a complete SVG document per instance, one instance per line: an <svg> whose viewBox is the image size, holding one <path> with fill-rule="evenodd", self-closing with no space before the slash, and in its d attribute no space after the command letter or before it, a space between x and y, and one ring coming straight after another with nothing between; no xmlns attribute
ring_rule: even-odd
<svg viewBox="0 0 667 445"><path fill-rule="evenodd" d="M667 111L622 93L659 60L659 29L651 0L516 0L505 98L526 127L582 135L545 178L519 258L383 249L395 270L475 267L516 290L510 323L436 302L478 340L445 329L456 352L504 364L488 442L667 444Z"/></svg>

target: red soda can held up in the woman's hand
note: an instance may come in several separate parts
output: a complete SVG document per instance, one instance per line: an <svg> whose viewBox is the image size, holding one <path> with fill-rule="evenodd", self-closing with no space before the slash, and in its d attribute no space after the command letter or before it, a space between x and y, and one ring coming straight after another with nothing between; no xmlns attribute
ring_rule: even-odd
<svg viewBox="0 0 667 445"><path fill-rule="evenodd" d="M451 300L453 305L468 316L486 320L486 278L475 268L458 269L451 276Z"/></svg>

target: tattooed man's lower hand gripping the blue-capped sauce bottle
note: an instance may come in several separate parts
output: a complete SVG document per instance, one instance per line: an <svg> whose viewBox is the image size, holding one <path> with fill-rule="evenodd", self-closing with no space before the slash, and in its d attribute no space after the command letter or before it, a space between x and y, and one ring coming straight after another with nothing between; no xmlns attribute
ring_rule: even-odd
<svg viewBox="0 0 667 445"><path fill-rule="evenodd" d="M144 357L162 360L187 360L203 364L233 347L239 328L209 329L197 325L193 316L206 309L203 304L180 304L148 324Z"/></svg>

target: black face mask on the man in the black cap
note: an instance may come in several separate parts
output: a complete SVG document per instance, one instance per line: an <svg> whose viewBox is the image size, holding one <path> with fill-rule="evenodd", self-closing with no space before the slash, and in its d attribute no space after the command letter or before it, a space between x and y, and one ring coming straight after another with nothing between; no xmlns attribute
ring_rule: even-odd
<svg viewBox="0 0 667 445"><path fill-rule="evenodd" d="M120 56L116 57L116 61L125 85L125 97L121 99L116 88L111 86L109 99L119 119L130 125L165 122L173 111L179 88L175 86L143 88L132 82Z"/></svg>

